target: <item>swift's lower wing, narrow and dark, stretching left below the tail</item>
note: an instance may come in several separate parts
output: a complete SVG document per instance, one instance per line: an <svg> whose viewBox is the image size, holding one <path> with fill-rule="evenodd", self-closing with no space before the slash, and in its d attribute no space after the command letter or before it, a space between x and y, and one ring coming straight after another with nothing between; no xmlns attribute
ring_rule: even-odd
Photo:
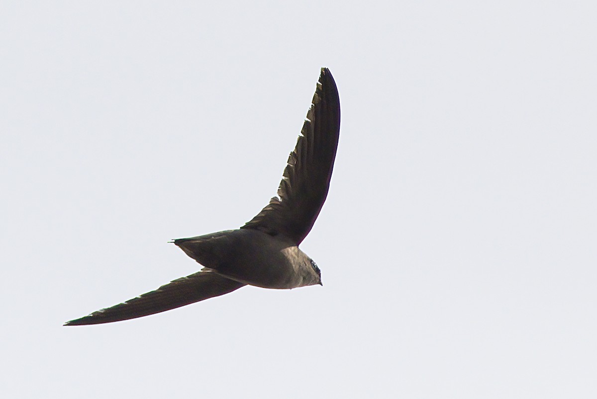
<svg viewBox="0 0 597 399"><path fill-rule="evenodd" d="M89 316L67 321L65 326L112 323L112 321L148 316L214 296L224 295L246 284L226 279L213 271L199 271L181 277L122 304L98 310Z"/></svg>

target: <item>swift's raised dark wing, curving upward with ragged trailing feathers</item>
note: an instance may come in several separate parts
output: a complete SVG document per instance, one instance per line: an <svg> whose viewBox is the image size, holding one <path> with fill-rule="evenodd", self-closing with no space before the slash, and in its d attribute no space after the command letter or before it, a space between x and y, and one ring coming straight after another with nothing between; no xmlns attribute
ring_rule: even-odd
<svg viewBox="0 0 597 399"><path fill-rule="evenodd" d="M278 197L273 197L241 228L284 234L300 244L328 195L339 134L340 99L336 82L330 70L322 68L301 135L288 157Z"/></svg>

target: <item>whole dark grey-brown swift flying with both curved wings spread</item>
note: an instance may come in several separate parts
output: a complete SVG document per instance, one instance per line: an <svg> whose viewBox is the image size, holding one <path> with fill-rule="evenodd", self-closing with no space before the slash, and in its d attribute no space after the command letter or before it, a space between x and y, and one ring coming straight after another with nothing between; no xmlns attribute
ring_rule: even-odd
<svg viewBox="0 0 597 399"><path fill-rule="evenodd" d="M67 321L65 326L112 323L149 316L247 284L291 289L321 283L321 271L298 245L324 205L340 134L340 100L327 68L319 81L297 145L290 153L278 196L237 230L174 240L201 271L122 304Z"/></svg>

